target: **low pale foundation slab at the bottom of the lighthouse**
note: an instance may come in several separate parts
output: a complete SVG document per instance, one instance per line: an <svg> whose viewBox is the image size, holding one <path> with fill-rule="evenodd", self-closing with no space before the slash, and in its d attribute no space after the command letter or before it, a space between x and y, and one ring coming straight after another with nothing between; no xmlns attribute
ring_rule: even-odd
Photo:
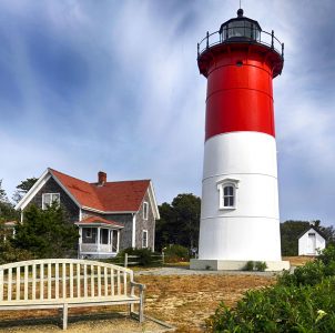
<svg viewBox="0 0 335 333"><path fill-rule="evenodd" d="M290 261L264 262L266 263L266 272L290 270ZM191 259L190 269L194 271L243 271L246 263L247 261Z"/></svg>

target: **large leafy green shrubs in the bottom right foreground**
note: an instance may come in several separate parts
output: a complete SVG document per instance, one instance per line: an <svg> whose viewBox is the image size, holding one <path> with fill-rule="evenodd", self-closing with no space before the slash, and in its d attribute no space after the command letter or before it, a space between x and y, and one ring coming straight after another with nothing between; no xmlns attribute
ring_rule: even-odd
<svg viewBox="0 0 335 333"><path fill-rule="evenodd" d="M275 285L250 291L230 309L223 303L207 320L212 332L334 332L335 280L311 285Z"/></svg>

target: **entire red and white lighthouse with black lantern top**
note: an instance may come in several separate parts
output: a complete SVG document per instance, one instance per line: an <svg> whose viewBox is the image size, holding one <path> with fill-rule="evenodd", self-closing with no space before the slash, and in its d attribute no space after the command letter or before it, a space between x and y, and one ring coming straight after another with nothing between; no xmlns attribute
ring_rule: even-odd
<svg viewBox="0 0 335 333"><path fill-rule="evenodd" d="M191 269L282 261L273 84L284 44L243 10L197 44L207 79L199 259Z"/></svg>

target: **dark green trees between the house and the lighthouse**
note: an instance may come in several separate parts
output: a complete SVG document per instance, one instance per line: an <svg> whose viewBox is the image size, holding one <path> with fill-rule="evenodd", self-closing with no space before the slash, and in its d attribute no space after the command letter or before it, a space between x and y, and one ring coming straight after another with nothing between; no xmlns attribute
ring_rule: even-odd
<svg viewBox="0 0 335 333"><path fill-rule="evenodd" d="M201 199L192 193L179 194L171 204L159 206L161 220L156 223L156 248L180 244L189 249L199 242Z"/></svg>

